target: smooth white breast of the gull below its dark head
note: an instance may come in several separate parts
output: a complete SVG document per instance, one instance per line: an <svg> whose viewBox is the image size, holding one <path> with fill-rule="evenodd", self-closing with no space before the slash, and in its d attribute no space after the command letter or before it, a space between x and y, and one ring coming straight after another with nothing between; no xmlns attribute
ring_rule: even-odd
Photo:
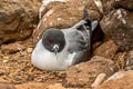
<svg viewBox="0 0 133 89"><path fill-rule="evenodd" d="M32 52L31 62L42 70L65 70L69 67L68 51L64 49L57 57L54 52L48 51L39 42Z"/></svg>

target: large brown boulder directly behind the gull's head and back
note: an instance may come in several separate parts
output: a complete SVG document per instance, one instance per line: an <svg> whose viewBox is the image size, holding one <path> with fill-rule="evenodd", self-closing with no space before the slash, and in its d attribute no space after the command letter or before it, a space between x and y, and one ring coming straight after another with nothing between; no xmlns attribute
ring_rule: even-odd
<svg viewBox="0 0 133 89"><path fill-rule="evenodd" d="M83 19L84 8L89 11L91 20L102 17L93 0L69 0L66 2L50 3L44 10L41 27L33 32L34 43L37 43L43 31L48 28L65 29L79 22Z"/></svg>

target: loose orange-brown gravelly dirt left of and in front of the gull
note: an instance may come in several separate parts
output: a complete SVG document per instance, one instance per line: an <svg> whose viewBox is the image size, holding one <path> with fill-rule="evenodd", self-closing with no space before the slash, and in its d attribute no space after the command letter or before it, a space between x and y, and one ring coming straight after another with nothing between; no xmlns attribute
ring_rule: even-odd
<svg viewBox="0 0 133 89"><path fill-rule="evenodd" d="M0 53L0 81L11 83L29 81L44 83L61 82L62 78L60 78L59 72L41 71L32 67L30 60L31 52L28 51L28 48L32 47L32 40L28 41L22 42L23 46L27 46L25 50L12 55Z"/></svg>

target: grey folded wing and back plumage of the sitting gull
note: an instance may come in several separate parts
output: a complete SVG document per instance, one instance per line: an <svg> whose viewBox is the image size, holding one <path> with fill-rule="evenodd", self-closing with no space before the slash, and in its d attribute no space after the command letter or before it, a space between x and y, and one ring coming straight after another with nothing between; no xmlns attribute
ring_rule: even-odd
<svg viewBox="0 0 133 89"><path fill-rule="evenodd" d="M70 43L69 52L74 53L72 65L85 61L90 56L91 34L98 26L98 21L92 21L91 27L88 26L88 20L81 20L70 29L62 30L65 34L65 40Z"/></svg>

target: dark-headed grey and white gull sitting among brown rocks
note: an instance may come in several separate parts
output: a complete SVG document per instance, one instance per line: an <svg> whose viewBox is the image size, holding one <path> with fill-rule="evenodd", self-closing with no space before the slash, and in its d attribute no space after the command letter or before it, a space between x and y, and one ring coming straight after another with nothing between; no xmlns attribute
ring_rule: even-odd
<svg viewBox="0 0 133 89"><path fill-rule="evenodd" d="M31 55L33 67L45 71L64 71L86 61L98 20L91 21L86 10L83 10L83 16L81 21L70 28L49 28L43 32Z"/></svg>

